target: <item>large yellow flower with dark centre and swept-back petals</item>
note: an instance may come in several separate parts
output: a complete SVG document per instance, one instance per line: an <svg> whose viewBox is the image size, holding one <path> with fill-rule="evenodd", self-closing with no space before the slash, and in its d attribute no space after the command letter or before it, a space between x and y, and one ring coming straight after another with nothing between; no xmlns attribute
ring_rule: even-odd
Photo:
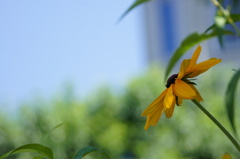
<svg viewBox="0 0 240 159"><path fill-rule="evenodd" d="M222 60L211 58L197 64L200 52L201 46L198 46L191 59L183 60L179 73L173 74L167 80L167 88L144 110L142 116L147 116L145 130L151 125L156 126L162 111L164 111L167 118L171 118L175 104L178 106L181 105L182 99L196 99L198 102L203 101L200 93L194 86L196 84L189 78L198 76Z"/></svg>

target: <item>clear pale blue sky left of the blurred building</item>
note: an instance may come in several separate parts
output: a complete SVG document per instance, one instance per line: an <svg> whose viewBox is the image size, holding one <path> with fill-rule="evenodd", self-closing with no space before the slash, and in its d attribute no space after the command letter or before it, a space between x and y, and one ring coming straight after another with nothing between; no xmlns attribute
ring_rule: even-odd
<svg viewBox="0 0 240 159"><path fill-rule="evenodd" d="M13 109L72 83L79 97L145 68L141 7L129 0L0 1L0 104ZM1 107L2 107L1 106Z"/></svg>

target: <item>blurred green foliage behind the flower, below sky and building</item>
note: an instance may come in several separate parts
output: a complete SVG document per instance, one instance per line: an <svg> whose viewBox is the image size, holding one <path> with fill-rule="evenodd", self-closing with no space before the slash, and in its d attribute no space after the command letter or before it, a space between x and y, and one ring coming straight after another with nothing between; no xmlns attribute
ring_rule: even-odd
<svg viewBox="0 0 240 159"><path fill-rule="evenodd" d="M216 67L196 81L202 104L228 130L223 96L233 73ZM225 152L234 158L238 152L229 140L191 101L176 107L171 119L163 115L156 127L143 129L141 113L165 89L163 79L164 70L153 67L119 94L105 87L80 101L69 87L50 101L24 104L14 117L2 112L0 154L23 144L40 143L51 148L56 159L71 159L87 146L103 150L112 159L220 159ZM239 120L237 117L236 123ZM9 158L27 159L29 155ZM84 158L104 156L91 153Z"/></svg>

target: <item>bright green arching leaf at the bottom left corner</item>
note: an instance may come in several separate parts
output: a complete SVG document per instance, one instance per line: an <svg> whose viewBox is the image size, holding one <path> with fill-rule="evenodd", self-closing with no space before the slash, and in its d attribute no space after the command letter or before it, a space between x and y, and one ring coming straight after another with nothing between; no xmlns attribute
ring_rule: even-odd
<svg viewBox="0 0 240 159"><path fill-rule="evenodd" d="M10 155L20 153L20 152L36 152L45 158L53 159L52 150L50 148L40 145L40 144L26 144L26 145L20 146L16 149L4 154L3 156L0 157L0 159L3 159L5 157L8 157Z"/></svg>

